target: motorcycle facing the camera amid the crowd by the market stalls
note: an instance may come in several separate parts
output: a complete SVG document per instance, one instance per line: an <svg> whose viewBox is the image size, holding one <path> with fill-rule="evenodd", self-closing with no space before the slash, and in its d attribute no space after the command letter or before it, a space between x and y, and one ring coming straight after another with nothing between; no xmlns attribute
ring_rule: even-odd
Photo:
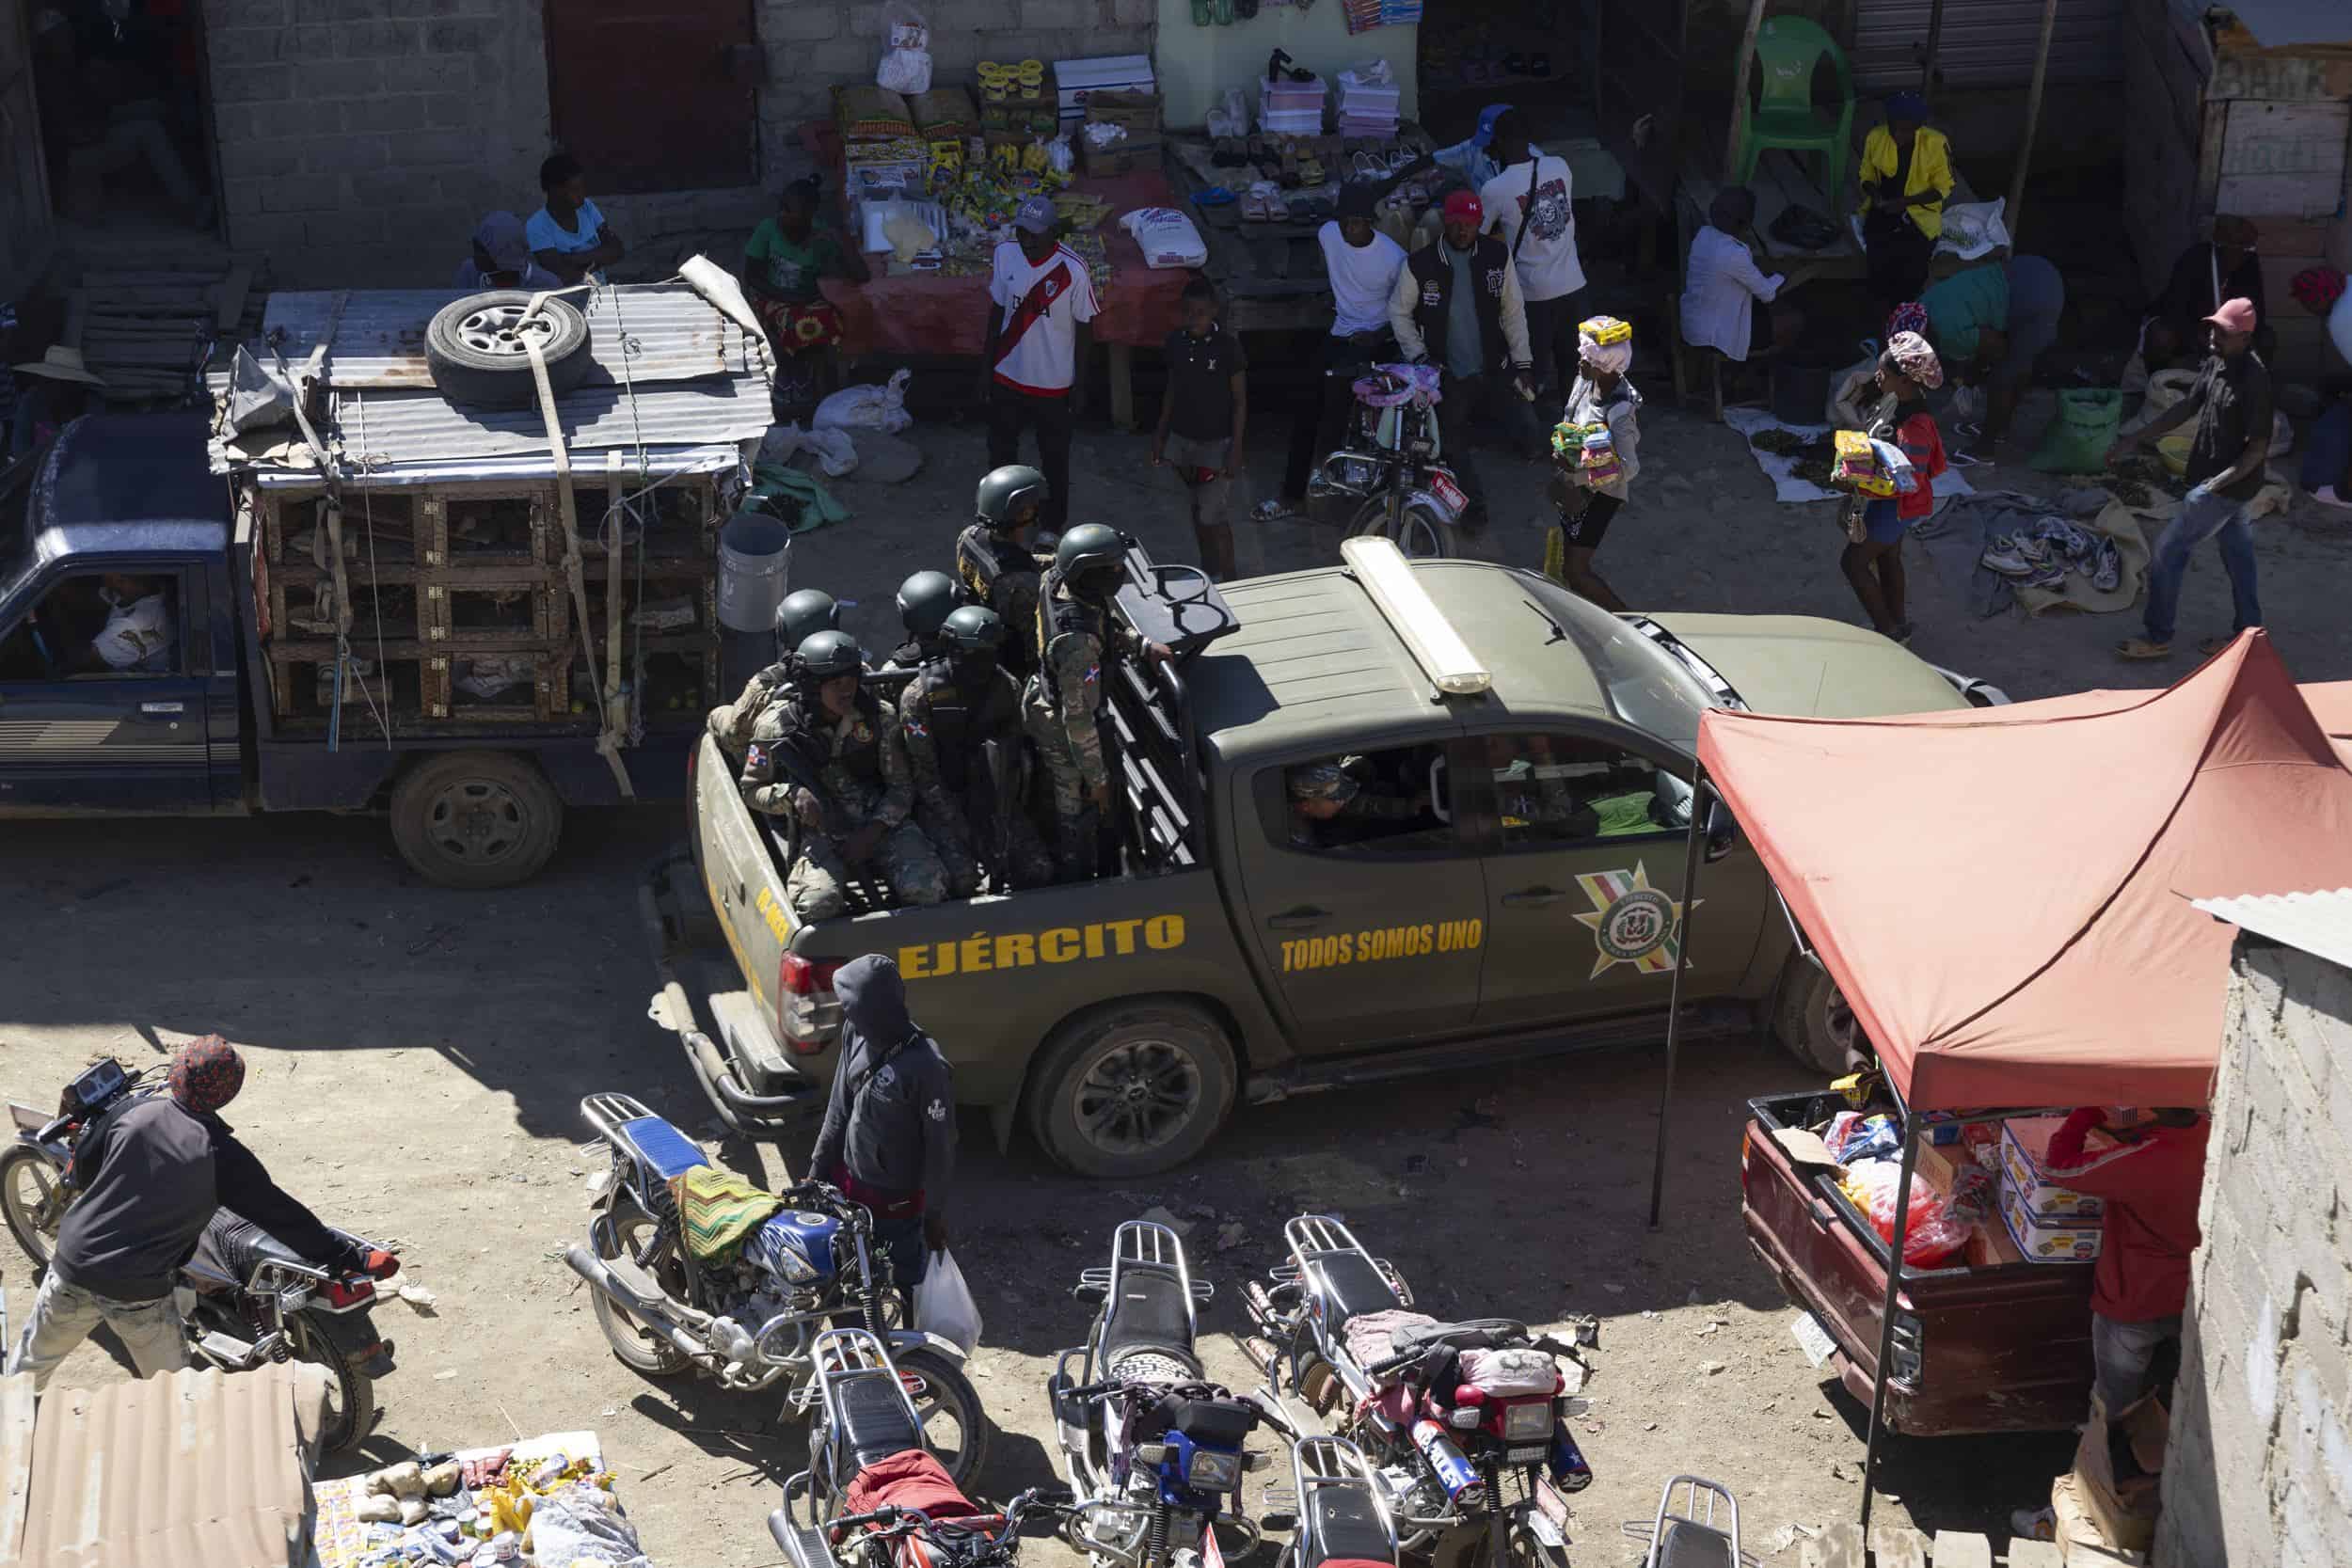
<svg viewBox="0 0 2352 1568"><path fill-rule="evenodd" d="M1430 364L1374 364L1355 381L1348 442L1308 477L1310 520L1416 559L1458 555L1470 496L1439 451L1437 381Z"/></svg>

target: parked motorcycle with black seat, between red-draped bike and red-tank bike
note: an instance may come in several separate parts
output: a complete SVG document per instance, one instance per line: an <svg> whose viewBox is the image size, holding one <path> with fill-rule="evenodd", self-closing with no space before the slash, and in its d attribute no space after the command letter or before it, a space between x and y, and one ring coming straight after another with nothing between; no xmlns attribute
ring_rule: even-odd
<svg viewBox="0 0 2352 1568"><path fill-rule="evenodd" d="M1256 1547L1258 1526L1237 1505L1242 1474L1263 1458L1242 1450L1263 1410L1202 1373L1197 1307L1214 1288L1192 1279L1183 1241L1127 1220L1110 1267L1084 1269L1073 1295L1098 1312L1047 1380L1077 1497L1063 1540L1096 1568L1221 1563L1218 1526L1244 1537L1242 1552Z"/></svg>

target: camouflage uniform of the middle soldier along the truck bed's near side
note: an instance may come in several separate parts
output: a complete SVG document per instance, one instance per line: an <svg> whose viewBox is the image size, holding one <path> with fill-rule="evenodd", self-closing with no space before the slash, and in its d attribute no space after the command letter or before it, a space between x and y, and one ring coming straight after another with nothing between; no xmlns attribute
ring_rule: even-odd
<svg viewBox="0 0 2352 1568"><path fill-rule="evenodd" d="M906 736L906 759L915 771L915 816L948 867L948 896L969 898L981 891L981 865L990 846L974 832L964 802L981 773L985 741L1021 743L1021 684L1002 668L988 668L981 691L964 691L955 663L936 658L898 693L898 729ZM993 884L1033 889L1054 882L1054 856L1037 837L1028 802L1014 799L1004 811L1004 865L988 865Z"/></svg>

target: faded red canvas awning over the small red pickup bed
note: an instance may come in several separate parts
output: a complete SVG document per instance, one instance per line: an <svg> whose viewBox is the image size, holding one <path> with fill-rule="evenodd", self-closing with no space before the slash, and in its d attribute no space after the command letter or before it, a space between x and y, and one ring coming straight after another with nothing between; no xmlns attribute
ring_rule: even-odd
<svg viewBox="0 0 2352 1568"><path fill-rule="evenodd" d="M2352 886L2352 684L2312 691L2256 630L2169 691L1708 712L1698 755L1912 1110L2204 1105L2234 929L2187 900Z"/></svg>

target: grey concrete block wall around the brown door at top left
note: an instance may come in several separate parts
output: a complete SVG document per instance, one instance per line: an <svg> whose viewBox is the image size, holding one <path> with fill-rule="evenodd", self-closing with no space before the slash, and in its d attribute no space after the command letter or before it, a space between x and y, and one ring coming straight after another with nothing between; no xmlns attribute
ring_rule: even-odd
<svg viewBox="0 0 2352 1568"><path fill-rule="evenodd" d="M981 59L1148 54L1155 0L927 0L938 82ZM207 0L228 240L280 284L426 287L475 221L539 207L553 148L546 26L520 0ZM760 181L731 190L590 193L630 244L623 277L734 247L809 172L800 127L833 85L873 80L880 2L755 0L767 49ZM626 103L621 106L626 110Z"/></svg>

